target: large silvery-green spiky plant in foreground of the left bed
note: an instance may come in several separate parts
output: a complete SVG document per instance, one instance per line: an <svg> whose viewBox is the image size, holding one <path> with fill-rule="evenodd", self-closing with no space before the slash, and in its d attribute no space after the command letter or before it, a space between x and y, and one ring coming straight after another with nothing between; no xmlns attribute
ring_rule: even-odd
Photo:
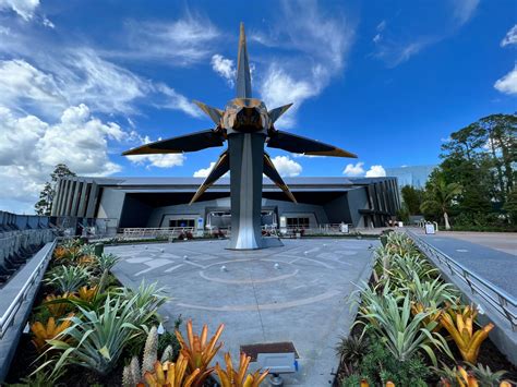
<svg viewBox="0 0 517 387"><path fill-rule="evenodd" d="M55 370L72 363L108 375L117 365L122 350L145 331L139 326L141 312L134 307L135 300L107 297L101 311L87 311L79 306L81 316L70 318L72 325L56 339L49 340L49 350L62 351ZM72 343L63 340L72 338ZM40 368L52 364L47 361Z"/></svg>

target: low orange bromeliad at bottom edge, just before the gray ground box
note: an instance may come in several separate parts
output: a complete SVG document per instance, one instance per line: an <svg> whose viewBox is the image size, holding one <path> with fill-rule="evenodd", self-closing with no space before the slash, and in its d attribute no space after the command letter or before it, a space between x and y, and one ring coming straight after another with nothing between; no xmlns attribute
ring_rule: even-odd
<svg viewBox="0 0 517 387"><path fill-rule="evenodd" d="M220 367L219 363L215 366L221 387L258 387L269 371L266 370L262 373L255 371L253 374L247 374L250 360L250 356L241 353L239 367L235 370L230 353L225 353L226 371Z"/></svg>

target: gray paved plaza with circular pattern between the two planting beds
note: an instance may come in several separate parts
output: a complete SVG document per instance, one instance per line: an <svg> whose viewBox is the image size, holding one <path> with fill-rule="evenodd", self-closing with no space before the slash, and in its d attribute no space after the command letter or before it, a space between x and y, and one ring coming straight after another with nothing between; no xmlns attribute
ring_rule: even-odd
<svg viewBox="0 0 517 387"><path fill-rule="evenodd" d="M287 385L325 386L337 371L334 347L354 319L347 298L371 274L375 240L286 240L258 251L225 250L228 241L120 245L113 274L124 286L158 281L171 300L161 314L192 318L194 329L220 323L224 351L242 344L292 341L300 371Z"/></svg>

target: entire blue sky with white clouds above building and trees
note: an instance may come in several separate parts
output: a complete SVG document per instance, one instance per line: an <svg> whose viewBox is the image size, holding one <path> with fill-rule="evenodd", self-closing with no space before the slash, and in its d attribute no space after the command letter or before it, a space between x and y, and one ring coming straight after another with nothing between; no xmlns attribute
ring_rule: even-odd
<svg viewBox="0 0 517 387"><path fill-rule="evenodd" d="M294 102L277 128L359 155L272 150L284 176L436 164L450 132L517 107L514 0L0 0L0 209L31 211L58 162L87 176L205 174L220 149L120 153L212 128L192 99L233 97L241 21L254 95Z"/></svg>

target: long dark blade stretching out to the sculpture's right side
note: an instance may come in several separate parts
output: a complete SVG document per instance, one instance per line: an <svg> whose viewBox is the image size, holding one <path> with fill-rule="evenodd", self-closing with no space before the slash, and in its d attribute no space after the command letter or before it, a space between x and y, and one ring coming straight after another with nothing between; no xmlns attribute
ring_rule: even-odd
<svg viewBox="0 0 517 387"><path fill-rule="evenodd" d="M357 155L338 148L334 145L321 143L315 140L302 137L282 131L273 132L270 134L269 141L267 142L267 146L296 154L357 158Z"/></svg>

